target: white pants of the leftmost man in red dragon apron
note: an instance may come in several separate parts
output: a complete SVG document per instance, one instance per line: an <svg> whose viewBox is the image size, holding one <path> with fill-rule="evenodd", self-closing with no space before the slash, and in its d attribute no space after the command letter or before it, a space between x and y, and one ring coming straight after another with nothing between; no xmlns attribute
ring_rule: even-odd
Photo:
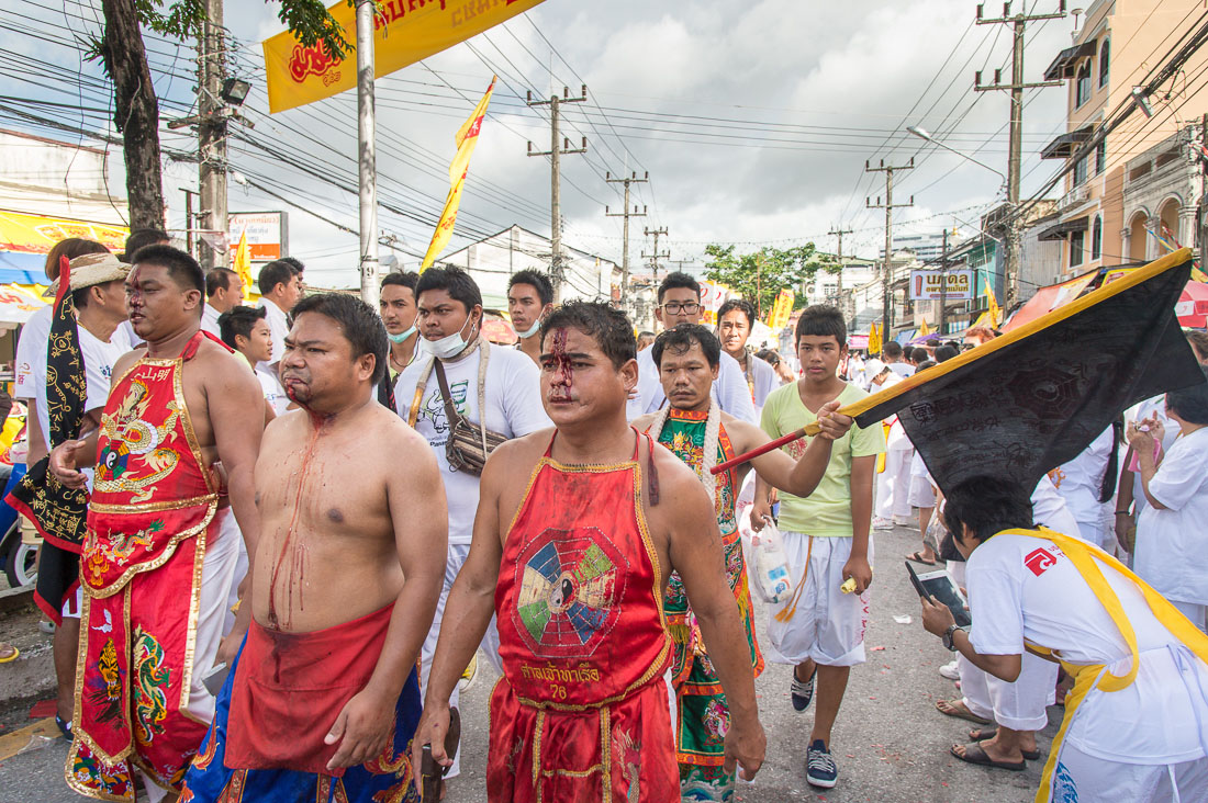
<svg viewBox="0 0 1208 803"><path fill-rule="evenodd" d="M234 520L234 516L230 518ZM234 537L231 537L223 520L215 536L205 545L205 557L202 558L202 593L197 606L193 676L188 685L188 704L185 711L204 722L214 720L214 706L217 700L205 688L202 679L214 668L219 646L222 644L223 622L230 609L227 600L242 542L238 529L234 531ZM168 795L167 790L145 776L143 787L151 803L158 803Z"/></svg>

